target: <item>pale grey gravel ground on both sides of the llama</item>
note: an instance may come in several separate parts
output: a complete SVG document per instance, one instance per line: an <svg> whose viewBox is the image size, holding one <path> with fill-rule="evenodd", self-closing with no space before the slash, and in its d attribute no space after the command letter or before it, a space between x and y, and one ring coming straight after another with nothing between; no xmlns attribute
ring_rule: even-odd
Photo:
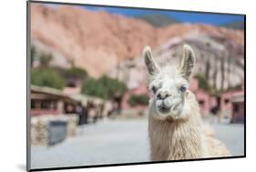
<svg viewBox="0 0 256 172"><path fill-rule="evenodd" d="M243 155L243 125L211 123L233 156ZM149 160L147 119L79 126L76 137L52 147L31 147L31 167L74 167Z"/></svg>

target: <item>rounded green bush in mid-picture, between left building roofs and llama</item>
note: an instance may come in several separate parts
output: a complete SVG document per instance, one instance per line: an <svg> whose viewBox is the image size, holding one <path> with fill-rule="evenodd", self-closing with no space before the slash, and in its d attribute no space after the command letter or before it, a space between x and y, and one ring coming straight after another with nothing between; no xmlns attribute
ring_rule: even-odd
<svg viewBox="0 0 256 172"><path fill-rule="evenodd" d="M118 94L122 96L127 86L117 79L102 76L99 79L88 78L82 86L82 94L98 96L103 99L112 99Z"/></svg>

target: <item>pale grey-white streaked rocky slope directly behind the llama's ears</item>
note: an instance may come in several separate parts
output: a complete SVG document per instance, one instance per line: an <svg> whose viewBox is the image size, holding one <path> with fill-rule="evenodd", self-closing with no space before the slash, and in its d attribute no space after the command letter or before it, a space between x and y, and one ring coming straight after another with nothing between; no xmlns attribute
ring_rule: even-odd
<svg viewBox="0 0 256 172"><path fill-rule="evenodd" d="M182 56L182 47L189 44L197 62L194 75L205 76L216 90L226 90L243 84L243 46L229 39L219 39L200 32L170 38L155 48L153 54L159 66L177 66ZM136 88L147 81L148 73L142 57L127 59L113 68L109 76L125 82L128 88Z"/></svg>

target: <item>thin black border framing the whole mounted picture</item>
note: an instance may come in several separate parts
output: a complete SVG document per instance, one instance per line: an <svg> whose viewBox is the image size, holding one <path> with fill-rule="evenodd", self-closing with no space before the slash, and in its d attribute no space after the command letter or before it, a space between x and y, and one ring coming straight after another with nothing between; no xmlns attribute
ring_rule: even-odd
<svg viewBox="0 0 256 172"><path fill-rule="evenodd" d="M212 15L243 15L244 17L244 155L231 156L231 157L207 157L207 158L195 158L195 159L181 159L171 161L147 161L136 163L118 163L118 164L106 164L106 165L92 165L92 166L75 166L75 167L46 167L46 168L31 168L31 144L30 144L30 46L31 46L31 13L30 4L50 4L50 5L85 5L85 6L98 6L98 7L117 7L126 9L145 9L145 10L160 10L160 11L174 11L184 13L200 13L200 14L212 14ZM192 162L192 161L206 161L206 160L218 160L218 159L235 159L246 157L246 15L245 14L232 14L232 13L219 13L219 12L203 12L203 11L189 11L189 10L175 10L175 9L160 9L160 8L148 8L142 6L122 6L122 5L93 5L82 3L63 3L63 2L51 2L51 1L26 1L26 171L48 171L48 170L61 170L61 169L77 169L77 168L90 168L90 167L119 167L119 166L133 166L133 165L152 165L159 163L174 163L174 162Z"/></svg>

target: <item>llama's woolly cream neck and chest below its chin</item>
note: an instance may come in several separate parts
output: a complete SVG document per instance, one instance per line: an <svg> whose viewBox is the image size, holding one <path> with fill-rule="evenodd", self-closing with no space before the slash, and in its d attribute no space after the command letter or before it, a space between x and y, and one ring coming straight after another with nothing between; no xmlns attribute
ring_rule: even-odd
<svg viewBox="0 0 256 172"><path fill-rule="evenodd" d="M200 110L193 95L186 119L159 120L148 116L152 160L175 160L204 156L204 135Z"/></svg>

